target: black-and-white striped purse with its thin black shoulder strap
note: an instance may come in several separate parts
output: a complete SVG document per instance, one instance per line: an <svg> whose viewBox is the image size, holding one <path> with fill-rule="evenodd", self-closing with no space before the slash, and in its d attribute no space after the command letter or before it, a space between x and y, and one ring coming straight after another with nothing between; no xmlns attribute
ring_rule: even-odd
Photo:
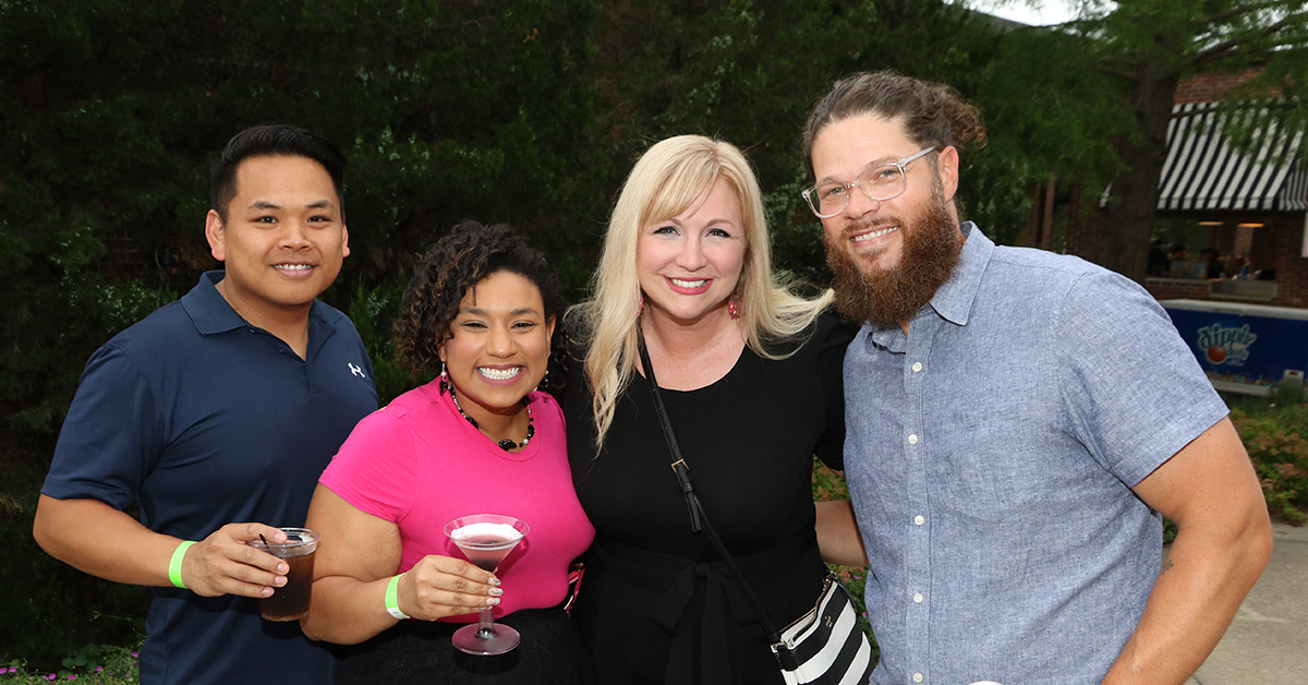
<svg viewBox="0 0 1308 685"><path fill-rule="evenodd" d="M818 684L818 685L865 685L872 676L872 647L867 642L867 635L858 627L858 618L854 616L854 604L849 597L849 591L840 584L840 580L831 572L823 583L821 593L818 596L814 608L799 618L794 620L782 630L773 627L768 618L766 609L759 602L753 589L744 582L740 568L731 558L722 538L713 529L704 504L695 494L691 485L691 469L685 465L681 448L678 447L676 435L672 432L672 422L663 407L663 396L658 390L658 381L654 379L654 365L650 355L645 350L645 341L640 341L641 364L645 365L645 380L649 382L650 394L654 397L654 409L658 410L659 423L663 426L663 439L672 453L672 473L681 487L685 506L691 515L691 530L704 532L718 550L722 562L726 563L727 575L740 587L755 614L759 616L759 625L768 635L772 654L781 667L781 676L787 685Z"/></svg>

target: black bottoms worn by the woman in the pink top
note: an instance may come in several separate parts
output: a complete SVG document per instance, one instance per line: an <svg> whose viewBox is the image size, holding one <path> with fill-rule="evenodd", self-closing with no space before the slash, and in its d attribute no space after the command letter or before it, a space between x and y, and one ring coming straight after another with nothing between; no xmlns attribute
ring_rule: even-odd
<svg viewBox="0 0 1308 685"><path fill-rule="evenodd" d="M497 621L522 643L494 656L463 654L450 643L458 623L400 621L353 647L337 685L578 685L581 640L562 609L525 609Z"/></svg>

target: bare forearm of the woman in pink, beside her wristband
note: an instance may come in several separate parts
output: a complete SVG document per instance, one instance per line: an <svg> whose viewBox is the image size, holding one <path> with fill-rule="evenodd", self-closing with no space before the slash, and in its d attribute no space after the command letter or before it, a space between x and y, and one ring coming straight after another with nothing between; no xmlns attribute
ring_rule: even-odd
<svg viewBox="0 0 1308 685"><path fill-rule="evenodd" d="M300 621L310 639L357 644L399 622L386 612L391 576L362 582L348 576L314 580L309 616Z"/></svg>

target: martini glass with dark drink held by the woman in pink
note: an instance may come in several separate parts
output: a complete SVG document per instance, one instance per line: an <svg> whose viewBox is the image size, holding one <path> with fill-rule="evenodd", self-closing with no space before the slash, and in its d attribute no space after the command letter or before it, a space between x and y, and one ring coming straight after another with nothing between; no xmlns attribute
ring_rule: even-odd
<svg viewBox="0 0 1308 685"><path fill-rule="evenodd" d="M527 534L527 524L513 516L475 513L459 516L445 524L445 534L463 550L470 562L484 571L494 572L500 562ZM459 651L489 656L508 652L518 646L521 642L518 631L504 623L496 623L492 612L490 606L481 609L476 623L454 631L453 642Z"/></svg>

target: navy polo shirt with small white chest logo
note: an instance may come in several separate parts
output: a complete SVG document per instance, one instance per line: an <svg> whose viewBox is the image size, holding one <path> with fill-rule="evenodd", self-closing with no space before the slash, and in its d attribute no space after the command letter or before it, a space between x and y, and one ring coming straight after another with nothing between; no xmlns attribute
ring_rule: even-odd
<svg viewBox="0 0 1308 685"><path fill-rule="evenodd" d="M42 494L139 503L146 528L183 540L303 525L318 475L377 409L373 368L345 314L314 301L302 360L232 309L222 276L204 274L92 355ZM298 622L259 618L258 600L148 592L143 685L331 682L334 656Z"/></svg>

